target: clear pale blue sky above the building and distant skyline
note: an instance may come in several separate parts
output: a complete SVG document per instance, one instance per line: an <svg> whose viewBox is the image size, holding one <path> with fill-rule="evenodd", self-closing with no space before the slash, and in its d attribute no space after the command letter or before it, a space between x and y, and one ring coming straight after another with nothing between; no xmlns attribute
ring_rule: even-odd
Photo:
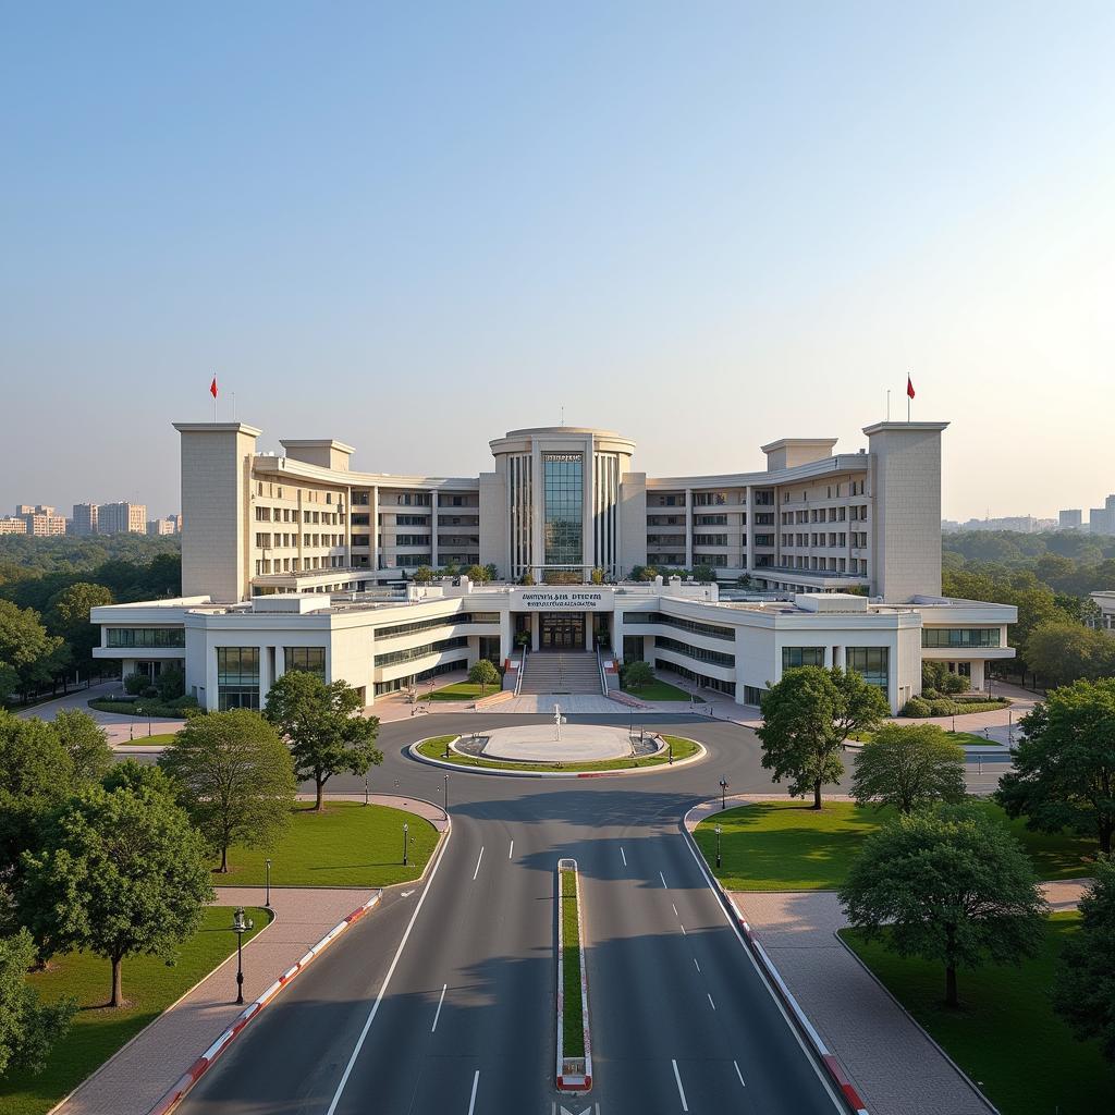
<svg viewBox="0 0 1115 1115"><path fill-rule="evenodd" d="M1115 4L0 9L0 512L174 419L651 474L950 419L949 517L1115 491Z"/></svg>

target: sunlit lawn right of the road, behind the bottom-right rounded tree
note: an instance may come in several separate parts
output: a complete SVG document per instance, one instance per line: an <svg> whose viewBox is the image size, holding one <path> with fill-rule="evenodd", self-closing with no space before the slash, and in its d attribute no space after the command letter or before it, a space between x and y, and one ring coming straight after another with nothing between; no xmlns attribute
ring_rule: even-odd
<svg viewBox="0 0 1115 1115"><path fill-rule="evenodd" d="M1090 872L1096 841L1031 833L1021 820L1008 821L992 802L979 804L1026 845L1039 878L1074 879ZM799 802L759 802L702 821L696 837L705 859L715 864L714 826L724 828L724 866L716 875L728 890L835 890L864 837L892 816L891 809L860 808L851 802L826 802L820 812Z"/></svg>

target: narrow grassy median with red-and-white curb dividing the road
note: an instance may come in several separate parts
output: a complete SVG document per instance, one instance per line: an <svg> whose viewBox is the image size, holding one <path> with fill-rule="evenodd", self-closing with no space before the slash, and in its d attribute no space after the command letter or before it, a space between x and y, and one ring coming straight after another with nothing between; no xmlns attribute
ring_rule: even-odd
<svg viewBox="0 0 1115 1115"><path fill-rule="evenodd" d="M558 1087L588 1092L592 1087L592 1046L576 860L558 861Z"/></svg>

